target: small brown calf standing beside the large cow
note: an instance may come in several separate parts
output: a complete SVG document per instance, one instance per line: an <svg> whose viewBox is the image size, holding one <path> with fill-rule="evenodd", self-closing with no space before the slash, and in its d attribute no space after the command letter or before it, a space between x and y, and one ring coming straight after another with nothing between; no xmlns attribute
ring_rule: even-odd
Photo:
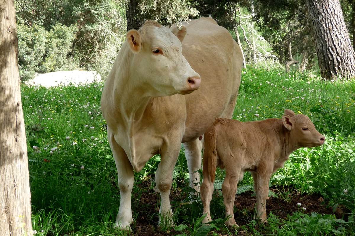
<svg viewBox="0 0 355 236"><path fill-rule="evenodd" d="M211 221L209 203L212 200L215 171L219 166L226 170L222 185L226 225L236 225L233 205L237 183L245 171L250 171L257 196L257 217L266 220L266 198L271 175L288 160L291 152L301 147L320 146L324 143L312 121L302 114L285 110L282 119L240 122L218 118L204 134L203 182L201 200L203 223Z"/></svg>

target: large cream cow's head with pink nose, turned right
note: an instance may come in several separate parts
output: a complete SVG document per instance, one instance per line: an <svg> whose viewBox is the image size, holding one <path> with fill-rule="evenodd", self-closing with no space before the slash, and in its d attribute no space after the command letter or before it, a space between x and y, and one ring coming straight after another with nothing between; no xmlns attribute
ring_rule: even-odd
<svg viewBox="0 0 355 236"><path fill-rule="evenodd" d="M154 21L127 33L137 82L149 91L148 96L188 94L200 87L200 75L181 53L185 34L184 26L169 29Z"/></svg>

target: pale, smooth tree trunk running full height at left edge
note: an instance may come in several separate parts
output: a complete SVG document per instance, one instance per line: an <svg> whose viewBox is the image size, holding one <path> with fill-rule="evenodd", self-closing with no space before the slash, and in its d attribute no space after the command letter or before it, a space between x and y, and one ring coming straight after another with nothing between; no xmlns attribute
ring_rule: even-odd
<svg viewBox="0 0 355 236"><path fill-rule="evenodd" d="M0 0L0 207L1 235L32 235L13 0Z"/></svg>

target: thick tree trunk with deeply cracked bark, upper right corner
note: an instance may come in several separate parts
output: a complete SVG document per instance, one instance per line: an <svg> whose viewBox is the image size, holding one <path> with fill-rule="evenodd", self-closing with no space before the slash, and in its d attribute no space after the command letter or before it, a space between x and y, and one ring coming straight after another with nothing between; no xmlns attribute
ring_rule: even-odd
<svg viewBox="0 0 355 236"><path fill-rule="evenodd" d="M355 76L355 52L339 0L306 0L324 79Z"/></svg>

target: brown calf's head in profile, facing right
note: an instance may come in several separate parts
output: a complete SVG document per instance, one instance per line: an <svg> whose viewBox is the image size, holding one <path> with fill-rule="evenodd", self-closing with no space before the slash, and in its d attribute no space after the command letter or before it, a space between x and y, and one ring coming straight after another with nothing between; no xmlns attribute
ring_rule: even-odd
<svg viewBox="0 0 355 236"><path fill-rule="evenodd" d="M312 148L324 143L325 137L317 131L308 116L296 115L293 111L286 109L282 122L290 131L291 139L298 147Z"/></svg>

